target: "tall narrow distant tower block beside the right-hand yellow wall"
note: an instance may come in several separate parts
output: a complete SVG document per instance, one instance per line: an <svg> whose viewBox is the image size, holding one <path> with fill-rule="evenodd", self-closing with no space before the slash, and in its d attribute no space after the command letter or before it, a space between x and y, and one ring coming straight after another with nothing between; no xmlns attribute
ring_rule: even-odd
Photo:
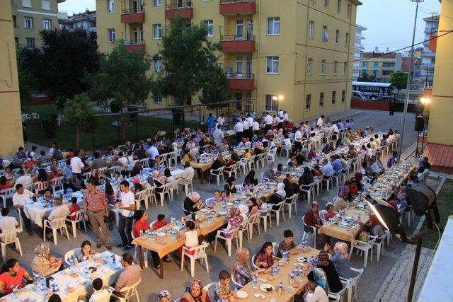
<svg viewBox="0 0 453 302"><path fill-rule="evenodd" d="M439 27L439 15L423 18L425 21L425 41L430 39L430 36L437 35ZM434 78L434 65L436 62L436 52L429 49L429 42L423 43L421 79L423 80L423 88L432 87L432 79Z"/></svg>

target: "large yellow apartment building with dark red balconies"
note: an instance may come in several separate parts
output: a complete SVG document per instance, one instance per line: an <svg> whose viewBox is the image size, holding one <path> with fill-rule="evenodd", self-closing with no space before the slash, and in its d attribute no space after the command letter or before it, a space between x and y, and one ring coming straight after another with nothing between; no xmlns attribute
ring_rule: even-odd
<svg viewBox="0 0 453 302"><path fill-rule="evenodd" d="M98 45L112 50L159 50L179 15L204 24L222 44L219 62L231 95L250 99L256 112L282 108L295 120L350 108L357 0L96 0ZM154 71L161 72L154 62ZM197 99L197 98L195 98ZM194 99L194 102L196 101ZM148 107L166 107L154 98ZM244 108L246 109L246 108Z"/></svg>

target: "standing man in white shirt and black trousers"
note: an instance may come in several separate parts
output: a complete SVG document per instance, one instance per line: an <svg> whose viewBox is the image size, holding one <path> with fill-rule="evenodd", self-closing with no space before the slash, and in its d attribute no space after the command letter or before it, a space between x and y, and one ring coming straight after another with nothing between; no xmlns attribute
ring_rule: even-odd
<svg viewBox="0 0 453 302"><path fill-rule="evenodd" d="M130 250L132 245L131 232L132 232L132 216L135 210L135 197L134 193L129 190L129 182L123 180L120 183L121 192L119 194L120 201L117 202L117 208L120 211L120 221L118 222L118 231L120 232L121 243L117 248Z"/></svg>

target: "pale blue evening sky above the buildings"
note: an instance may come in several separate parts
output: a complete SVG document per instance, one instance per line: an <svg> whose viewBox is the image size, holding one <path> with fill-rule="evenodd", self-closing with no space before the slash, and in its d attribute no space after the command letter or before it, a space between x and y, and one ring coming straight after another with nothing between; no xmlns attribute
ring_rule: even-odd
<svg viewBox="0 0 453 302"><path fill-rule="evenodd" d="M286 1L286 0L266 0ZM415 3L411 0L361 0L363 5L357 10L357 24L365 26L362 41L365 51L372 51L379 47L379 51L398 50L411 45ZM70 15L96 9L96 0L66 0L59 4L60 11L67 11ZM425 0L418 5L417 29L415 43L424 40L423 18L431 16L431 12L440 11L438 0Z"/></svg>

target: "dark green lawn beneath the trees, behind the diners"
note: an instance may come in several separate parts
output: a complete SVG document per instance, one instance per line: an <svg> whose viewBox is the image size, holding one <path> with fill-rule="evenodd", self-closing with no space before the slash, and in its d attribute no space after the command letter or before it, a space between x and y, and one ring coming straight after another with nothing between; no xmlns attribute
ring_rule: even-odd
<svg viewBox="0 0 453 302"><path fill-rule="evenodd" d="M56 113L57 108L55 105L29 105L27 112L37 112L41 116L46 113ZM110 123L115 122L117 117L96 117L98 127L94 132L94 141L91 132L81 130L80 132L80 146L87 151L94 148L105 149L105 147L112 144L124 144L125 141L136 141L137 133L135 124L125 129L125 139L118 139L118 129L113 127ZM186 121L186 127L197 127L198 122ZM138 118L138 139L145 139L156 134L159 130L164 130L167 134L172 134L172 120L159 118L159 117L142 117ZM175 127L178 127L177 125ZM42 146L50 146L52 141L56 141L61 149L75 148L76 146L76 129L74 125L63 123L57 130L55 137L46 137L41 123L32 122L27 124L27 138L33 144Z"/></svg>

